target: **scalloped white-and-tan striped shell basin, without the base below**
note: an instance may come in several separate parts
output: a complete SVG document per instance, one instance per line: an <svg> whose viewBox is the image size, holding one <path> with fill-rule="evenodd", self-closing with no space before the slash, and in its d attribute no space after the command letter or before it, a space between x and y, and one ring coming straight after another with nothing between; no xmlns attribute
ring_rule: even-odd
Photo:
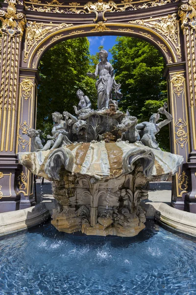
<svg viewBox="0 0 196 295"><path fill-rule="evenodd" d="M182 156L124 141L93 141L54 150L20 152L19 159L33 174L49 180L59 180L62 166L72 174L106 180L131 173L138 162L147 178L169 177L183 162Z"/></svg>

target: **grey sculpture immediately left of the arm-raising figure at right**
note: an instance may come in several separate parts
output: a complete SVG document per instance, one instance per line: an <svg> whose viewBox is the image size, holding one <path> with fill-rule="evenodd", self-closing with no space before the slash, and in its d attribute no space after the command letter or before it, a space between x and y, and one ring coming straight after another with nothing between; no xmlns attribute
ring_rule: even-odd
<svg viewBox="0 0 196 295"><path fill-rule="evenodd" d="M117 125L117 128L122 131L123 140L129 141L129 143L135 143L140 140L140 135L136 129L138 119L130 116L129 112L126 111L126 116L123 118L121 124Z"/></svg>

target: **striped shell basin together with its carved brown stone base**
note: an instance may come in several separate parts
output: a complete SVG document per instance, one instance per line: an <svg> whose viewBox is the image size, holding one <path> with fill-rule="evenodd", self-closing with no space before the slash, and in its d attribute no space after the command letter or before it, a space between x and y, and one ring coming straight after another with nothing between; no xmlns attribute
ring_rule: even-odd
<svg viewBox="0 0 196 295"><path fill-rule="evenodd" d="M177 172L183 157L124 141L76 143L20 153L33 174L52 180L59 206L51 223L66 233L136 236L145 228L146 183Z"/></svg>

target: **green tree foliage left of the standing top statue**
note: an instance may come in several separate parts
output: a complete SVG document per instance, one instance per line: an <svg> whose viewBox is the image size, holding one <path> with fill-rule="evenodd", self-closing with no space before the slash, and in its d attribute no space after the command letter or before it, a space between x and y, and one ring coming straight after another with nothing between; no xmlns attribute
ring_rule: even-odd
<svg viewBox="0 0 196 295"><path fill-rule="evenodd" d="M66 110L73 114L73 106L78 104L77 89L83 90L95 107L95 81L86 75L90 58L88 39L76 38L55 45L41 59L37 129L43 131L44 137L52 127L51 113Z"/></svg>

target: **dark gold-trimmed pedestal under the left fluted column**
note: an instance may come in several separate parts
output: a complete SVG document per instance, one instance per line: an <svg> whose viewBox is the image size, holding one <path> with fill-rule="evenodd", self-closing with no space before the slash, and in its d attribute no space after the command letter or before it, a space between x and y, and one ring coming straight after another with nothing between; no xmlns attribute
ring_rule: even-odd
<svg viewBox="0 0 196 295"><path fill-rule="evenodd" d="M21 195L17 180L22 171L15 155L1 154L0 158L0 213L18 210Z"/></svg>

